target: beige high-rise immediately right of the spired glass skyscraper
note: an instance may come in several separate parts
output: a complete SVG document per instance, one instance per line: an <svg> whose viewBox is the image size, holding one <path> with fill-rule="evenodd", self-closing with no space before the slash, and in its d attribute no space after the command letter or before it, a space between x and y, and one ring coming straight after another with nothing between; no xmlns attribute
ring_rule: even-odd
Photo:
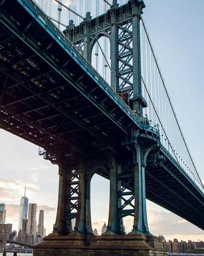
<svg viewBox="0 0 204 256"><path fill-rule="evenodd" d="M27 219L27 234L36 236L36 210L37 204L29 204Z"/></svg>

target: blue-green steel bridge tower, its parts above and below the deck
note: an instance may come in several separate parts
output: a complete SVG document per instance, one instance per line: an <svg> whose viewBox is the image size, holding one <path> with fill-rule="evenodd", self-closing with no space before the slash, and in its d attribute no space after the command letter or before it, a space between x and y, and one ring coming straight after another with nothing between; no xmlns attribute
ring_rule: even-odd
<svg viewBox="0 0 204 256"><path fill-rule="evenodd" d="M139 24L144 7L143 1L129 0L127 4L119 6L117 0L113 0L111 8L100 17L92 19L91 13L87 12L84 21L78 26L70 20L64 34L89 62L97 40L101 37L110 40L111 87L124 98L142 123L149 124L147 118L143 117L143 108L147 107L147 102L142 96L141 86ZM137 141L137 135L138 131L130 127L129 135L123 141L124 148L131 151L131 160L119 160L112 146L103 145L106 156L92 155L85 159L80 149L75 149L77 154L65 154L73 154L77 158L75 171L72 170L73 166L66 164L65 159L56 161L59 165L60 185L57 218L52 235L92 236L90 182L95 173L110 180L109 218L107 232L103 235L124 235L122 218L128 215L134 216L133 230L129 235L151 235L147 223L145 166L150 151L159 149L159 141L151 141L150 144L142 139ZM94 140L92 143L101 146L100 141ZM124 200L127 195L129 199ZM76 218L73 232L72 218Z"/></svg>

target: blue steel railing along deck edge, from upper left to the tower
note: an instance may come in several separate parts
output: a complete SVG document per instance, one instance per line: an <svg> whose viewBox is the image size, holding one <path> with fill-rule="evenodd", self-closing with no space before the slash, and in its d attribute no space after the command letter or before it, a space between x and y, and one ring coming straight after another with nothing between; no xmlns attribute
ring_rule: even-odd
<svg viewBox="0 0 204 256"><path fill-rule="evenodd" d="M60 29L53 23L53 21L47 16L47 14L40 8L32 0L18 0L21 1L24 5L26 5L33 14L35 14L36 18L40 19L42 23L45 25L45 28L49 30L56 39L58 39L66 50L68 50L73 57L75 57L82 65L87 73L90 73L93 79L97 80L98 84L103 87L105 91L109 93L114 101L117 101L118 105L122 107L122 109L127 113L129 117L133 121L135 121L139 127L144 127L145 129L150 129L159 134L158 129L154 127L149 127L144 124L144 118L138 116L134 111L126 104L125 101L118 95L116 91L104 80L104 78L96 71L96 69L91 65L90 62L81 54L81 52L77 49L77 47L61 32Z"/></svg>

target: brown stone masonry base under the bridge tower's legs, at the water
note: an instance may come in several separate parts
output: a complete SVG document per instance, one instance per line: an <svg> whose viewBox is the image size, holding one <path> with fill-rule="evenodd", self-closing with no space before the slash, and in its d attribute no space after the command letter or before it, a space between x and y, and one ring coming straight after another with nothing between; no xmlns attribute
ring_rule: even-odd
<svg viewBox="0 0 204 256"><path fill-rule="evenodd" d="M46 236L33 256L167 256L161 238L124 236Z"/></svg>

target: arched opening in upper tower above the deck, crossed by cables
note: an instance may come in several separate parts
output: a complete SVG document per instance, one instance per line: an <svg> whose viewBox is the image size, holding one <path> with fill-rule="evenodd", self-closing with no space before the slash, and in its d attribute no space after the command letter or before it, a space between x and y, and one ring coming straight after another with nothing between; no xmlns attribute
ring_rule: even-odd
<svg viewBox="0 0 204 256"><path fill-rule="evenodd" d="M91 44L91 64L104 78L107 83L111 83L111 44L108 33L97 35Z"/></svg>

